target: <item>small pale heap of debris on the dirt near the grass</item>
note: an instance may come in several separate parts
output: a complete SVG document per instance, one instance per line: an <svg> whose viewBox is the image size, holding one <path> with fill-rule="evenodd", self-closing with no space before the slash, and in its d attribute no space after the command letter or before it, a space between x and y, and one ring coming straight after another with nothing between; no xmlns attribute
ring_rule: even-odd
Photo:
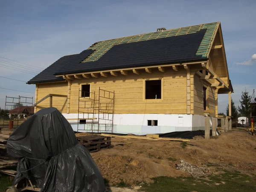
<svg viewBox="0 0 256 192"><path fill-rule="evenodd" d="M180 164L175 164L175 167L176 169L188 172L192 177L195 178L205 176L209 172L209 170L205 167L199 167L183 160L180 160Z"/></svg>

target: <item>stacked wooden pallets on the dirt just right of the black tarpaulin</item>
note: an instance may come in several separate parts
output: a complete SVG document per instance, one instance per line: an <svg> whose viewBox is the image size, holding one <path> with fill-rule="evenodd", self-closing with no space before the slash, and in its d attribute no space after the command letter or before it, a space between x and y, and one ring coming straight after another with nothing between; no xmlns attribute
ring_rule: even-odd
<svg viewBox="0 0 256 192"><path fill-rule="evenodd" d="M111 147L111 137L89 135L89 136L78 136L76 137L81 145L84 145L88 151L96 152L103 148Z"/></svg>

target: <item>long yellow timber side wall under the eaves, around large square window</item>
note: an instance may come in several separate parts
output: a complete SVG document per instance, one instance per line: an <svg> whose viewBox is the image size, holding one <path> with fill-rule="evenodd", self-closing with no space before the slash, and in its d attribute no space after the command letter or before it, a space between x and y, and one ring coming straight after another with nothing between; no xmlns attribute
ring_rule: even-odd
<svg viewBox="0 0 256 192"><path fill-rule="evenodd" d="M140 75L128 72L128 76L100 76L98 79L75 79L71 85L70 113L78 111L79 87L90 83L91 92L98 97L99 87L103 90L115 91L115 113L186 113L186 71L176 72L166 69L161 73L155 69L152 74L141 70ZM143 79L163 78L163 99L143 100Z"/></svg>

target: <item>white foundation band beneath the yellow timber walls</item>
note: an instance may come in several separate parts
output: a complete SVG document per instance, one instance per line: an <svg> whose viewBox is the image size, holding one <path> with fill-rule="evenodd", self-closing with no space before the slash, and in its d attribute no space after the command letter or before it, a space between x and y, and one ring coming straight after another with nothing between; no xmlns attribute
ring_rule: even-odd
<svg viewBox="0 0 256 192"><path fill-rule="evenodd" d="M90 122L92 120L87 120L88 124L77 124L77 120L69 120L78 118L77 113L63 113L64 117L68 119L74 131L79 132L111 132L111 127L109 125L100 125L98 127L98 120L93 120L96 122L92 126ZM87 116L89 118L93 117L93 114ZM94 117L98 119L98 114ZM79 118L82 118L79 116ZM102 114L100 114L102 118ZM109 117L111 119L112 117ZM106 117L105 117L106 119ZM205 117L200 115L191 114L114 114L113 116L113 133L120 134L162 134L175 131L197 131L204 130ZM157 120L157 126L148 126L148 120ZM108 124L111 121L100 120L100 124ZM212 121L209 121L210 127L212 126Z"/></svg>

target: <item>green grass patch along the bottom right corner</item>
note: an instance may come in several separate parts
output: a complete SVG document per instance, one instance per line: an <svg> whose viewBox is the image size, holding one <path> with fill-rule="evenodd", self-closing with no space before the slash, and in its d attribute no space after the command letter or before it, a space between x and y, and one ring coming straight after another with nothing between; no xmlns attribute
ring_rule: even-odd
<svg viewBox="0 0 256 192"><path fill-rule="evenodd" d="M255 179L256 175L250 177L239 172L225 170L223 174L210 175L207 180L193 177L156 177L153 178L153 184L143 185L140 190L146 192L255 192Z"/></svg>

